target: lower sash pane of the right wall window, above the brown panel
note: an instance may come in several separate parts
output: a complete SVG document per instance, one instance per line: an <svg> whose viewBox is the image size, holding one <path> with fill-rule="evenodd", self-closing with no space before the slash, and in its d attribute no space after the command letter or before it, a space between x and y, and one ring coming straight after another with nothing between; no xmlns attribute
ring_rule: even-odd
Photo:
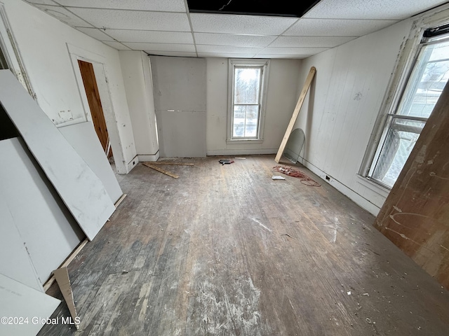
<svg viewBox="0 0 449 336"><path fill-rule="evenodd" d="M373 172L373 179L390 188L396 182L425 123L394 118Z"/></svg>

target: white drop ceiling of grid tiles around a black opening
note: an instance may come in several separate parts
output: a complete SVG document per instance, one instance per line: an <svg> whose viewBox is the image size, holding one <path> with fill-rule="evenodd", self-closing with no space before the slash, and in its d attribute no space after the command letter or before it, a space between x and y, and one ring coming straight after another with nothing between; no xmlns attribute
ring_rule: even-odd
<svg viewBox="0 0 449 336"><path fill-rule="evenodd" d="M225 4L232 1L239 0ZM321 0L301 18L197 13L187 8L187 0L27 2L118 50L186 57L305 58L447 1Z"/></svg>

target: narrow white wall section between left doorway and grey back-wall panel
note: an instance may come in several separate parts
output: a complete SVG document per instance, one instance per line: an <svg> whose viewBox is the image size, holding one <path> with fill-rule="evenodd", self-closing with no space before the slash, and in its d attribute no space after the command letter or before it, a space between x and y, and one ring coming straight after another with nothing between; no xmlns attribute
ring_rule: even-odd
<svg viewBox="0 0 449 336"><path fill-rule="evenodd" d="M156 161L159 144L149 57L145 52L128 50L119 51L119 56L138 159Z"/></svg>

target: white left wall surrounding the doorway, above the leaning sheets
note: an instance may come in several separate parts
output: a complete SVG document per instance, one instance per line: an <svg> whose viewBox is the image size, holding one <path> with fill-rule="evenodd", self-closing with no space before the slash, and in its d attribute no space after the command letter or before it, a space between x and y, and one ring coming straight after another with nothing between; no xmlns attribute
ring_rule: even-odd
<svg viewBox="0 0 449 336"><path fill-rule="evenodd" d="M119 173L129 172L133 168L136 150L119 52L23 1L1 1L5 5L37 102L55 125L69 125L89 119L76 82L77 69L72 66L69 45L76 50L85 50L86 55L98 55L104 59L107 90L110 93L109 110L112 111L110 115L105 113L105 117L112 150ZM98 81L100 79L97 78Z"/></svg>

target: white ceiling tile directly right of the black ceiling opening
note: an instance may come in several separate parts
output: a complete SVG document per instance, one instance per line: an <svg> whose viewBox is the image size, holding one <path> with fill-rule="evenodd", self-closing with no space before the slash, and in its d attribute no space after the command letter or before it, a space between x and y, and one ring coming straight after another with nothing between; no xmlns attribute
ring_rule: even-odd
<svg viewBox="0 0 449 336"><path fill-rule="evenodd" d="M441 5L442 0L321 0L304 18L402 20Z"/></svg>

